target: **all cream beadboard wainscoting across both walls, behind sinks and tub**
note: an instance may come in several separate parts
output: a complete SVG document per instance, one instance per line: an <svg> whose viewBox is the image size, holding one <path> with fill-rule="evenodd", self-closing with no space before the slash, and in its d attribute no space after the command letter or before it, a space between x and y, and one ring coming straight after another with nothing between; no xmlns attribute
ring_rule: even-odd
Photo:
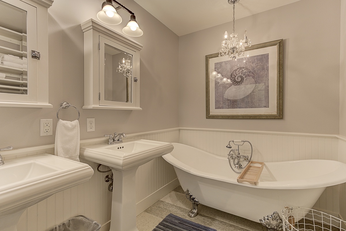
<svg viewBox="0 0 346 231"><path fill-rule="evenodd" d="M218 156L227 156L229 140L249 140L254 148L253 160L271 162L300 159L331 159L346 163L346 138L336 135L318 135L285 132L231 131L215 129L173 128L127 135L126 139L139 138L165 142L180 142ZM107 138L82 140L81 146L104 144ZM4 160L40 153L54 154L54 145L4 151ZM20 231L46 231L61 222L85 215L108 231L111 213L111 192L97 163L81 159L93 170L92 178L81 185L56 193L29 207L18 223ZM101 170L108 167L102 166ZM289 173L288 173L289 174ZM136 173L137 214L151 206L179 185L174 168L162 157L143 166ZM114 182L116 187L116 182ZM346 184L327 187L314 209L346 219Z"/></svg>

